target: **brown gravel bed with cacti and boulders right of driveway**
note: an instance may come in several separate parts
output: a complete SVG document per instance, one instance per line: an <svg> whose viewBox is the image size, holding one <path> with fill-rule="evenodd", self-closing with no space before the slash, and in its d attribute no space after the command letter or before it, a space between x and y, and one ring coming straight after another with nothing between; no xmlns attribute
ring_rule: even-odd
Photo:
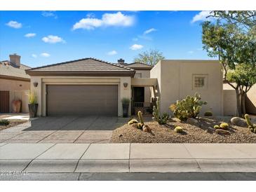
<svg viewBox="0 0 256 192"><path fill-rule="evenodd" d="M255 143L256 134L245 127L231 125L223 118L198 118L198 123L192 125L180 122L172 118L166 125L159 125L157 122L145 122L149 125L151 132L144 132L134 128L132 125L123 125L114 130L112 143ZM229 123L228 135L217 134L214 125ZM175 127L180 126L183 132L175 132Z"/></svg>

